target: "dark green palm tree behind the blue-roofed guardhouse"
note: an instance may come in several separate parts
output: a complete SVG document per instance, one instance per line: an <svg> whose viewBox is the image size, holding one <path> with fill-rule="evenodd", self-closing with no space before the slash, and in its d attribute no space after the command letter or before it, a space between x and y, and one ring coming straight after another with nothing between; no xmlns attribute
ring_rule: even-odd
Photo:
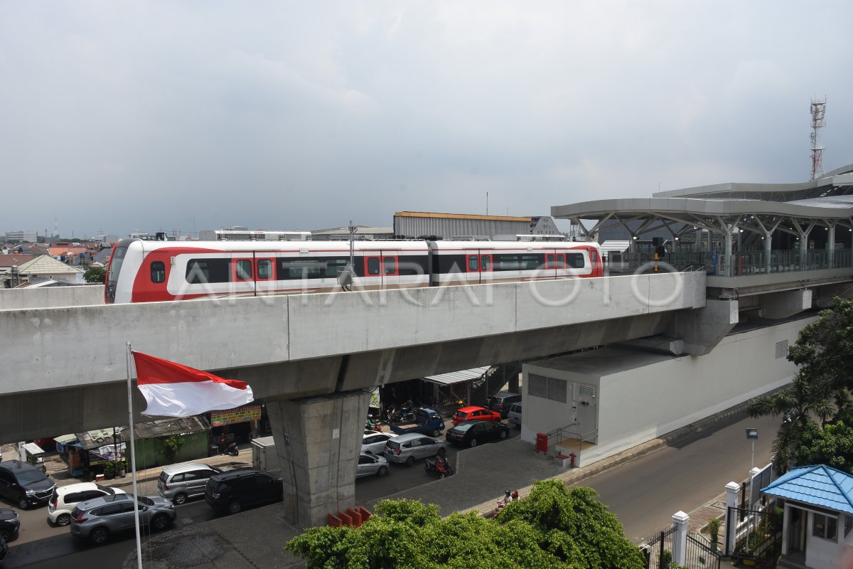
<svg viewBox="0 0 853 569"><path fill-rule="evenodd" d="M810 378L800 370L786 389L753 398L747 404L746 412L753 419L782 415L782 424L773 442L773 466L777 473L784 474L792 466L792 457L799 449L811 417L819 418L822 426L833 415L831 398L831 387L827 381Z"/></svg>

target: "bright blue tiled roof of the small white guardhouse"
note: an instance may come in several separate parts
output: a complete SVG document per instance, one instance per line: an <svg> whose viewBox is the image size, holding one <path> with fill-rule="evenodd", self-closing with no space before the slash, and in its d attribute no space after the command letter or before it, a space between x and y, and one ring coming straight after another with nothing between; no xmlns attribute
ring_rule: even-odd
<svg viewBox="0 0 853 569"><path fill-rule="evenodd" d="M853 514L853 475L823 464L793 468L761 491L770 496Z"/></svg>

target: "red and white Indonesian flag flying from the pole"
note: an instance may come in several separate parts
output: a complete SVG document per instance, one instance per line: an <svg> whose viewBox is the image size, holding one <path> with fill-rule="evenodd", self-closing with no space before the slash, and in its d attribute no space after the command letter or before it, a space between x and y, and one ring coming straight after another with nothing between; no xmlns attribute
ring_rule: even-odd
<svg viewBox="0 0 853 569"><path fill-rule="evenodd" d="M252 403L245 381L223 380L200 369L133 351L136 386L148 402L143 415L188 417Z"/></svg>

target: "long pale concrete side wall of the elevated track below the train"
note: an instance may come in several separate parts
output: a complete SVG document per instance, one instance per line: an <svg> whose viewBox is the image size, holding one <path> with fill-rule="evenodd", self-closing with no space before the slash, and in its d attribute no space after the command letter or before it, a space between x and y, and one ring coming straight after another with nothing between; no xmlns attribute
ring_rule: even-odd
<svg viewBox="0 0 853 569"><path fill-rule="evenodd" d="M697 308L704 282L676 273L2 311L0 394L124 380L125 342L234 369Z"/></svg>

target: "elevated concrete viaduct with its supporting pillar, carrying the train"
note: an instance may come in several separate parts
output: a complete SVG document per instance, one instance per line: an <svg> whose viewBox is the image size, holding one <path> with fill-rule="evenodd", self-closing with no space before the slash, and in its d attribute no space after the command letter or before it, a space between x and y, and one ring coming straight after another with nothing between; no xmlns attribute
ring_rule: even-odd
<svg viewBox="0 0 853 569"><path fill-rule="evenodd" d="M126 423L125 342L250 382L267 405L286 512L351 506L363 388L671 330L705 273L0 311L0 433ZM736 312L736 311L735 311ZM136 392L136 390L134 390ZM144 402L135 393L137 421Z"/></svg>

